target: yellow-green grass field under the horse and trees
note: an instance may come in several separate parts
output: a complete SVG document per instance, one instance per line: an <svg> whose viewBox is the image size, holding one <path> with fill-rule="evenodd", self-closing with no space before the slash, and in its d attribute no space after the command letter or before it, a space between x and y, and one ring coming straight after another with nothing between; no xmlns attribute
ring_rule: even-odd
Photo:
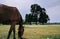
<svg viewBox="0 0 60 39"><path fill-rule="evenodd" d="M60 39L60 25L24 25L23 38L26 39ZM6 39L10 25L0 25L0 39ZM16 25L16 38L18 25ZM10 39L13 38L11 35ZM18 39L18 38L17 38Z"/></svg>

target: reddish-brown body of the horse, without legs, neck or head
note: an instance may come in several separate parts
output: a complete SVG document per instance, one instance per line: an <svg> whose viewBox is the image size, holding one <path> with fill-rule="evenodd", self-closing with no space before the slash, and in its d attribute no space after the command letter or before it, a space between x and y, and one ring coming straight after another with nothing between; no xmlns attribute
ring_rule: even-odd
<svg viewBox="0 0 60 39"><path fill-rule="evenodd" d="M1 21L19 21L20 14L16 7L0 5L0 22Z"/></svg>

